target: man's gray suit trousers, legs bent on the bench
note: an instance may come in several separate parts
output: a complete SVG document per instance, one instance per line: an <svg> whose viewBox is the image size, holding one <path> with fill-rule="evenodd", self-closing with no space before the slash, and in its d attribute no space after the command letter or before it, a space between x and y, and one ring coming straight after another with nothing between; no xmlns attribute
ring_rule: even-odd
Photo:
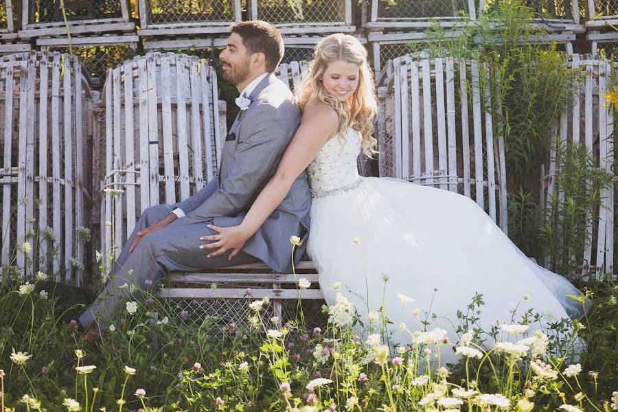
<svg viewBox="0 0 618 412"><path fill-rule="evenodd" d="M205 244L200 237L216 232L206 227L207 222L188 216L174 220L165 228L145 236L135 251L129 253L131 245L137 238L137 232L159 222L173 209L171 205L157 205L149 207L141 214L133 233L114 264L113 277L107 282L92 308L80 316L79 320L84 328L94 324L97 314L99 318L111 317L113 309L121 304L122 298L126 299L132 295L131 299L140 299L141 294L130 293L131 285L139 286L143 290L152 290L146 282L150 280L156 287L170 271L195 272L260 262L258 258L242 251L232 260L227 260L227 253L216 258L207 258L207 251L200 249L200 245ZM120 288L124 284L128 287ZM100 323L99 328L105 329L106 325Z"/></svg>

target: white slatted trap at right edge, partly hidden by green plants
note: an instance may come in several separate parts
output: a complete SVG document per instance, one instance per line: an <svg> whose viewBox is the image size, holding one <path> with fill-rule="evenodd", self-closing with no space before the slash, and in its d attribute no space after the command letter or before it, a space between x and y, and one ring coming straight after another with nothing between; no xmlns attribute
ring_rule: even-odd
<svg viewBox="0 0 618 412"><path fill-rule="evenodd" d="M599 168L614 174L614 116L613 109L605 102L605 93L613 84L612 78L618 66L612 67L609 60L591 56L574 55L569 60L573 69L584 71L584 82L573 93L572 104L560 115L560 123L556 129L556 141L564 146L572 143L584 144L588 153L593 155ZM558 196L560 205L564 205L564 194L560 193L556 179L560 176L560 164L556 162L556 146L550 153L547 172L541 170L541 206L545 201ZM582 268L582 275L593 273L599 276L604 273L614 273L614 218L615 218L615 186L610 182L608 187L599 193L601 204L593 212L586 228L586 244L582 255L576 256ZM561 206L559 206L561 207ZM595 251L595 253L593 253ZM545 259L549 266L549 257Z"/></svg>

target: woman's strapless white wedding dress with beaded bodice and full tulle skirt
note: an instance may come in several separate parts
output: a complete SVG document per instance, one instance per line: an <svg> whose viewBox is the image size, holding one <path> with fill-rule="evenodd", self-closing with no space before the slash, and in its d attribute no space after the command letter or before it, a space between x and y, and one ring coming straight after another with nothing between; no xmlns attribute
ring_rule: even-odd
<svg viewBox="0 0 618 412"><path fill-rule="evenodd" d="M442 328L457 343L457 310L465 313L476 293L483 295L479 323L485 331L496 321L520 321L529 308L545 322L582 317L582 304L567 297L580 291L529 260L470 198L407 181L363 178L356 168L360 151L360 134L350 129L330 139L308 166L308 253L329 306L339 293L332 285L341 282L340 292L365 326L369 312L385 307L393 322L389 330L400 343L411 341L400 323L420 330L424 311L427 330ZM407 297L415 301L404 304ZM452 345L441 352L443 365L457 361Z"/></svg>

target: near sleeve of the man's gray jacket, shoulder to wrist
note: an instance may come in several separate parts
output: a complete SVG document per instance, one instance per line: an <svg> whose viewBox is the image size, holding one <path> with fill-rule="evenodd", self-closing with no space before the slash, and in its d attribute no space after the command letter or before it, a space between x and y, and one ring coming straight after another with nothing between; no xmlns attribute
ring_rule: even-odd
<svg viewBox="0 0 618 412"><path fill-rule="evenodd" d="M217 190L187 216L210 220L248 209L256 190L275 170L286 148L286 122L271 104L260 104L242 120L242 133Z"/></svg>

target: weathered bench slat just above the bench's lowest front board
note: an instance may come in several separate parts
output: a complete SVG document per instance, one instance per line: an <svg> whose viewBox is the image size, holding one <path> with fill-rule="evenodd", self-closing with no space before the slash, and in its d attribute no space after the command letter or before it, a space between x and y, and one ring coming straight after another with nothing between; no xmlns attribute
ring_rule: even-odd
<svg viewBox="0 0 618 412"><path fill-rule="evenodd" d="M319 282L317 273L307 273L303 275L277 275L277 274L262 274L262 273L187 273L187 274L170 274L168 281L170 283L201 283L209 284L213 282L227 283L288 283L295 284L299 279L304 278L309 282L316 284Z"/></svg>

